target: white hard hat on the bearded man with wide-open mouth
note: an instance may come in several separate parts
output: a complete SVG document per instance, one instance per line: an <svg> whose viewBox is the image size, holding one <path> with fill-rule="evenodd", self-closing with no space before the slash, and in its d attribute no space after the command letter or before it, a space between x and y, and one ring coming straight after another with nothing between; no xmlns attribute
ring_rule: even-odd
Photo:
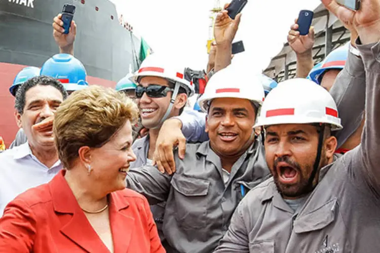
<svg viewBox="0 0 380 253"><path fill-rule="evenodd" d="M261 107L257 126L325 123L331 130L343 128L331 95L315 82L296 78L279 83Z"/></svg>

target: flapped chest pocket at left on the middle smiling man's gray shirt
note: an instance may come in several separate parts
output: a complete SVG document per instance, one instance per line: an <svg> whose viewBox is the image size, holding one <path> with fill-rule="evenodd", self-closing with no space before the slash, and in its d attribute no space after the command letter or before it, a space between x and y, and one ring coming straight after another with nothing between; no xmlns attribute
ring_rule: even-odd
<svg viewBox="0 0 380 253"><path fill-rule="evenodd" d="M204 179L176 175L172 178L174 188L174 216L178 226L200 229L206 226L208 191L210 182Z"/></svg>

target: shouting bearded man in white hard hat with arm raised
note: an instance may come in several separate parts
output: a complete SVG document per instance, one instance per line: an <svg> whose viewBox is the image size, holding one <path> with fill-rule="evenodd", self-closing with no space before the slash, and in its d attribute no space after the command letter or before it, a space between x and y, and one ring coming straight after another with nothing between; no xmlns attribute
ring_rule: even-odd
<svg viewBox="0 0 380 253"><path fill-rule="evenodd" d="M242 200L217 253L380 248L380 1L363 0L357 12L334 0L322 2L359 34L366 74L361 143L336 158L331 131L340 120L327 91L301 79L279 85L256 124L265 130L265 158L274 177Z"/></svg>

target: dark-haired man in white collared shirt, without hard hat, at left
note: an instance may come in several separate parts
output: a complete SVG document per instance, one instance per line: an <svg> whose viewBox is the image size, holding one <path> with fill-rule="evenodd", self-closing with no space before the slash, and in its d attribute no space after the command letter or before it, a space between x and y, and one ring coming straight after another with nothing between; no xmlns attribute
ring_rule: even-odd
<svg viewBox="0 0 380 253"><path fill-rule="evenodd" d="M17 90L16 121L28 142L0 154L0 216L18 194L49 182L61 170L52 122L42 128L39 123L53 117L66 97L62 84L46 76L33 77Z"/></svg>

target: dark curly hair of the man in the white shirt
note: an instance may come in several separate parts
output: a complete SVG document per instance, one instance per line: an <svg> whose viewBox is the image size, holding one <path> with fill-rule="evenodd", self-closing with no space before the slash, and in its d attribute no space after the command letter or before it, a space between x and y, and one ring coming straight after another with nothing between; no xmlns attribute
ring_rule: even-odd
<svg viewBox="0 0 380 253"><path fill-rule="evenodd" d="M53 77L49 77L49 76L44 76L44 75L35 76L25 81L17 89L16 96L15 96L16 97L15 108L17 109L18 113L20 114L24 113L26 92L37 85L53 86L54 88L56 88L58 91L61 92L63 100L65 100L68 96L62 83L58 81L57 79L54 79Z"/></svg>

